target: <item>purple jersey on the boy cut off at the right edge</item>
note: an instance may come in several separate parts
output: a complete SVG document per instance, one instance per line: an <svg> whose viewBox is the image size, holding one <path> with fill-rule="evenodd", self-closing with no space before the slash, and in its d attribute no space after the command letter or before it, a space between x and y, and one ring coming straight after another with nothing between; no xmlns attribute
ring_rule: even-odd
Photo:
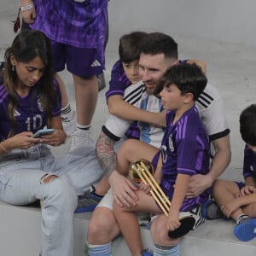
<svg viewBox="0 0 256 256"><path fill-rule="evenodd" d="M247 145L244 149L243 177L253 177L256 179L256 153Z"/></svg>

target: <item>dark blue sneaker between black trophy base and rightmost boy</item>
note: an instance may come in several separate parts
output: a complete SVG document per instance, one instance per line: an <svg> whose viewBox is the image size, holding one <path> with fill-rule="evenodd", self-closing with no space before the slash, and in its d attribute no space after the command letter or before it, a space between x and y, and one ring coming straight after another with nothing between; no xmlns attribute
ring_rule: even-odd
<svg viewBox="0 0 256 256"><path fill-rule="evenodd" d="M217 203L211 199L208 199L206 202L204 202L201 209L201 215L206 219L224 218L224 214L221 212Z"/></svg>

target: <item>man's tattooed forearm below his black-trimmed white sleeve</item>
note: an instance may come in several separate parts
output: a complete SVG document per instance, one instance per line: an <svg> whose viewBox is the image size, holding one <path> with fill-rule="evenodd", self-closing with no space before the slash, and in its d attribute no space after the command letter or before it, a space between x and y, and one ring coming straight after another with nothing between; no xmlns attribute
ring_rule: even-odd
<svg viewBox="0 0 256 256"><path fill-rule="evenodd" d="M116 170L116 154L113 151L114 143L115 141L101 131L96 143L96 157L107 177Z"/></svg>

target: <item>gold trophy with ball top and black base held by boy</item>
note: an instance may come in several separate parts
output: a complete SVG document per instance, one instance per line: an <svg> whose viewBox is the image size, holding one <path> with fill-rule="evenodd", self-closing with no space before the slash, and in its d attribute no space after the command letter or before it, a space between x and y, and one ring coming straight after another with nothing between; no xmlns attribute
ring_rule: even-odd
<svg viewBox="0 0 256 256"><path fill-rule="evenodd" d="M168 216L171 201L166 196L160 185L155 181L154 166L144 159L139 159L131 163L129 167L129 176L134 183L145 183L150 185L150 194L153 196L154 201L158 204L160 209ZM195 218L193 216L186 216L179 219L181 225L177 230L169 231L168 236L172 239L186 235L193 229Z"/></svg>

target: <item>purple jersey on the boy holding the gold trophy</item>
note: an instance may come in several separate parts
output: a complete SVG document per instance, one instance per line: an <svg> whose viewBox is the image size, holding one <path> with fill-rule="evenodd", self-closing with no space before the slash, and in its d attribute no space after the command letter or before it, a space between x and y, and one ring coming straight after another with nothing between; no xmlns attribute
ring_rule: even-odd
<svg viewBox="0 0 256 256"><path fill-rule="evenodd" d="M197 108L183 113L172 125L174 111L166 113L166 132L161 144L163 178L160 187L172 201L177 173L189 176L209 171L209 142ZM189 211L207 200L210 190L193 199L185 198L180 211Z"/></svg>

